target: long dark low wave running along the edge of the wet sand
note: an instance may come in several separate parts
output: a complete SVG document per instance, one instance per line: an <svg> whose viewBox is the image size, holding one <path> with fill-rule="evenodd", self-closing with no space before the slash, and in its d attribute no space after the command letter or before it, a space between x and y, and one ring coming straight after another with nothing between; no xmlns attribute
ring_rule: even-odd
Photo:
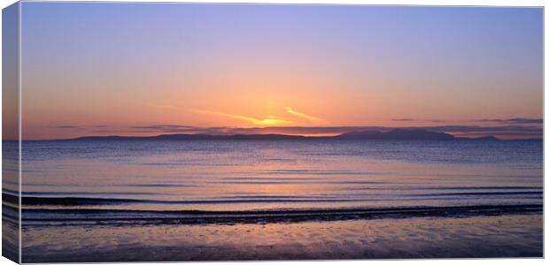
<svg viewBox="0 0 549 265"><path fill-rule="evenodd" d="M352 219L539 214L541 204L406 208L323 208L246 211L22 209L23 225L82 223L272 223Z"/></svg>

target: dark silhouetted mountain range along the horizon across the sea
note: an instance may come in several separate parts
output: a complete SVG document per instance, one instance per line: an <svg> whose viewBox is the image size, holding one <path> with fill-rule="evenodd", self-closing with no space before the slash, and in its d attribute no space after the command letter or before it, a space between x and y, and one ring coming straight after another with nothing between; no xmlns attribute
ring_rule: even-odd
<svg viewBox="0 0 549 265"><path fill-rule="evenodd" d="M449 133L423 129L393 129L387 132L361 131L336 136L302 136L286 134L161 134L157 136L85 136L69 140L499 140L493 136L455 137Z"/></svg>

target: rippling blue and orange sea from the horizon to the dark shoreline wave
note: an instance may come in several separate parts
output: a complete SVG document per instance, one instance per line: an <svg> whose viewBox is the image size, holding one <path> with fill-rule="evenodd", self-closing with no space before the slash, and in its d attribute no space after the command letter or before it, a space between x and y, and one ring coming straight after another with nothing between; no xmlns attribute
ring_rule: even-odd
<svg viewBox="0 0 549 265"><path fill-rule="evenodd" d="M541 141L28 141L22 157L25 209L532 205L543 195Z"/></svg>

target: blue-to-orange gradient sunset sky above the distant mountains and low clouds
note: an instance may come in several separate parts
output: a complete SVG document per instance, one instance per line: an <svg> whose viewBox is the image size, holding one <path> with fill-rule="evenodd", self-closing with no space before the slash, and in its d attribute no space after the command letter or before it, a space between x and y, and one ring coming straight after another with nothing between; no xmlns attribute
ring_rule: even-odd
<svg viewBox="0 0 549 265"><path fill-rule="evenodd" d="M24 2L22 134L540 128L542 19L541 8Z"/></svg>

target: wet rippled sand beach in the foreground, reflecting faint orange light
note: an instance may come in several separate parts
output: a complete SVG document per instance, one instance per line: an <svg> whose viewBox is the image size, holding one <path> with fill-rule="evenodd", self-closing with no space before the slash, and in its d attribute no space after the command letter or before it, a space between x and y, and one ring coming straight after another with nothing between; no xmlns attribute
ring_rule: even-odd
<svg viewBox="0 0 549 265"><path fill-rule="evenodd" d="M541 257L543 216L23 228L23 262Z"/></svg>

